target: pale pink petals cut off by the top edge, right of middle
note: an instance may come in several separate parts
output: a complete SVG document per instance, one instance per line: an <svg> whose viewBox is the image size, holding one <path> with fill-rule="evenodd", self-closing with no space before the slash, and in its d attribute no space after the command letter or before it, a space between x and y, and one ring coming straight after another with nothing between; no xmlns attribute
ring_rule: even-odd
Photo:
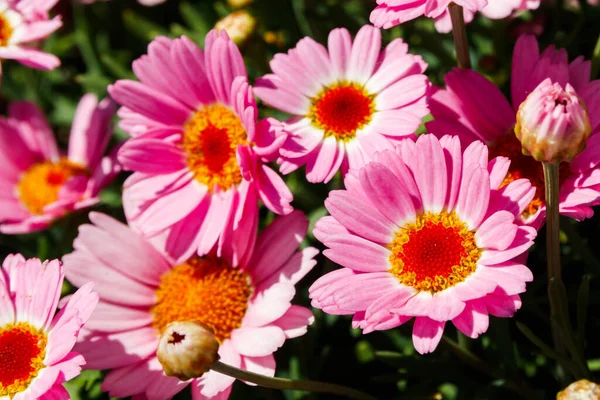
<svg viewBox="0 0 600 400"><path fill-rule="evenodd" d="M535 10L541 0L464 0L453 2L463 7L466 23L473 20L480 11L485 17L503 19L515 11ZM406 21L425 15L435 19L438 32L447 33L452 30L448 5L450 0L377 0L377 8L371 13L371 23L384 29L391 28Z"/></svg>

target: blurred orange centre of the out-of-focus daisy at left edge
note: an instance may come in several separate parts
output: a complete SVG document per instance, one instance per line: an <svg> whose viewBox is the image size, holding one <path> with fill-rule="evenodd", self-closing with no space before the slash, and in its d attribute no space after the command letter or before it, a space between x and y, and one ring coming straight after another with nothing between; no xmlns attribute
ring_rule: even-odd
<svg viewBox="0 0 600 400"><path fill-rule="evenodd" d="M74 176L89 176L80 165L62 158L56 163L44 161L34 164L21 177L17 193L21 203L32 214L43 214L44 207L58 200L62 185Z"/></svg>

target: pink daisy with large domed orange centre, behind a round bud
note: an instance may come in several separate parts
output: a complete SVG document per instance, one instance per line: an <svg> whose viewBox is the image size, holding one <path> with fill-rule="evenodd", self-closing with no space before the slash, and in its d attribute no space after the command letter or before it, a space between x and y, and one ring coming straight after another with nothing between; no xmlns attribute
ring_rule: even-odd
<svg viewBox="0 0 600 400"><path fill-rule="evenodd" d="M318 253L296 251L308 228L299 211L269 225L237 268L215 252L174 262L122 223L99 213L90 220L94 225L79 228L75 251L63 260L70 282L93 281L100 294L77 349L87 368L112 369L102 388L113 397L164 400L189 384L194 399L228 397L228 376L211 371L181 382L164 375L156 349L170 322L204 322L215 331L223 362L272 376L273 353L313 321L310 310L290 303Z"/></svg>

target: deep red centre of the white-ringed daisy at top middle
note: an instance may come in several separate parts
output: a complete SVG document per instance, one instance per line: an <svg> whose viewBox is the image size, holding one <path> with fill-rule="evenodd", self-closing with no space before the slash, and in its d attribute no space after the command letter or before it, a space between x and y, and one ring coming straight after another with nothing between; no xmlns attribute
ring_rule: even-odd
<svg viewBox="0 0 600 400"><path fill-rule="evenodd" d="M356 132L371 122L375 112L373 96L362 86L353 83L336 83L325 88L312 99L308 114L312 124L325 131L325 137L334 136L348 141Z"/></svg>

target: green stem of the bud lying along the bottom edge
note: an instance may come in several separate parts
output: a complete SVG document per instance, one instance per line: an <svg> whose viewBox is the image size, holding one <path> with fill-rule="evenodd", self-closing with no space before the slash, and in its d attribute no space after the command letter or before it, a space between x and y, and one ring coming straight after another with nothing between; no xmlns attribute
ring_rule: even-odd
<svg viewBox="0 0 600 400"><path fill-rule="evenodd" d="M298 381L292 379L272 378L265 375L255 374L243 369L232 367L231 365L223 364L217 361L211 366L213 371L231 376L242 381L255 383L259 386L264 386L271 389L279 390L305 390L309 392L321 392L345 396L356 400L377 400L375 397L363 393L359 390L352 389L346 386L334 385L332 383L317 382L317 381Z"/></svg>

